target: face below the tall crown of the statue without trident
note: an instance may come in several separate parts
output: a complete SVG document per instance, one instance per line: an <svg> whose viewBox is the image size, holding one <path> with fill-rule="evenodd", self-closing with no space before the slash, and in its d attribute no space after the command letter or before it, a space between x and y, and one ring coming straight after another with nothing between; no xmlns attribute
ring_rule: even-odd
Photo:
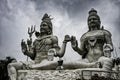
<svg viewBox="0 0 120 80"><path fill-rule="evenodd" d="M88 18L88 26L91 29L98 29L100 27L100 21L97 16L90 16Z"/></svg>

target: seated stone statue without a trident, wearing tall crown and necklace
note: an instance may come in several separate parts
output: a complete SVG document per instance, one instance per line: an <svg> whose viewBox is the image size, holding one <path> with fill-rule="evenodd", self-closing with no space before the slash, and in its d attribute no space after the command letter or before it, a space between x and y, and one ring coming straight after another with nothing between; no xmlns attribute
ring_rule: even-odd
<svg viewBox="0 0 120 80"><path fill-rule="evenodd" d="M89 30L86 33L84 33L80 38L80 47L78 47L78 42L75 36L72 36L70 39L73 50L80 54L82 56L82 59L77 61L64 61L64 69L97 68L99 67L99 63L102 63L103 61L103 70L108 70L107 68L109 67L111 68L111 66L109 65L112 65L113 63L112 59L109 57L111 56L111 52L113 51L113 44L111 40L112 35L109 31L105 30L104 27L100 26L100 17L98 16L97 11L92 8L89 11L88 16ZM106 46L104 47L104 45ZM106 49L108 49L107 53ZM104 54L104 52L106 54ZM42 69L55 64L56 63L46 63L44 65L40 65L39 68Z"/></svg>

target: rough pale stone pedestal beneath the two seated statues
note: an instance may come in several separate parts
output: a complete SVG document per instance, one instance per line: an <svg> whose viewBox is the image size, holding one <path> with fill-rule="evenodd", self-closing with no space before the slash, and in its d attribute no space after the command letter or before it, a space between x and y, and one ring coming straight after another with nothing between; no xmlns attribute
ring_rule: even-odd
<svg viewBox="0 0 120 80"><path fill-rule="evenodd" d="M18 70L18 80L89 80L92 75L101 76L100 69L85 68L75 70ZM112 77L112 76L111 76Z"/></svg>

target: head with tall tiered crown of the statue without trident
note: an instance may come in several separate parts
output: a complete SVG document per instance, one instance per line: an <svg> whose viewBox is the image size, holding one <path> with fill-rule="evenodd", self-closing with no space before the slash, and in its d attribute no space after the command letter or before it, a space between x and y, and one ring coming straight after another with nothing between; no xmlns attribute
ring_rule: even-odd
<svg viewBox="0 0 120 80"><path fill-rule="evenodd" d="M91 30L99 30L100 29L100 17L97 15L97 11L92 8L89 11L89 16L88 16L88 27L89 27L89 31Z"/></svg>

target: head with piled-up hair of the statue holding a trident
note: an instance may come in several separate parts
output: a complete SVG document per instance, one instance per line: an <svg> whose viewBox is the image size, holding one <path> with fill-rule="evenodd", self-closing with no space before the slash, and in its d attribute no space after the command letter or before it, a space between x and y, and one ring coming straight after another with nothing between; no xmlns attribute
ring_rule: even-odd
<svg viewBox="0 0 120 80"><path fill-rule="evenodd" d="M44 14L42 18L42 22L40 25L40 33L41 34L52 34L52 22L50 16L48 14Z"/></svg>

